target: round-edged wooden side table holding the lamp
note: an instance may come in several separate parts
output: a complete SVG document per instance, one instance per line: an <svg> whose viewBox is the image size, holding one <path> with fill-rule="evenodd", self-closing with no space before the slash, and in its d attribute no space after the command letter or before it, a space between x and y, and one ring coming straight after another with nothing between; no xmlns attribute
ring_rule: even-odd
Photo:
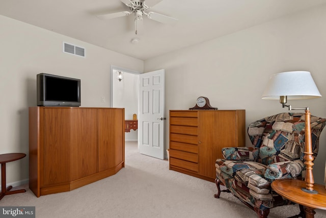
<svg viewBox="0 0 326 218"><path fill-rule="evenodd" d="M326 189L324 185L314 184L314 190L318 193L312 194L301 190L305 187L305 181L296 179L280 179L271 183L271 188L279 195L306 207L306 218L313 218L316 213L314 209L326 210Z"/></svg>

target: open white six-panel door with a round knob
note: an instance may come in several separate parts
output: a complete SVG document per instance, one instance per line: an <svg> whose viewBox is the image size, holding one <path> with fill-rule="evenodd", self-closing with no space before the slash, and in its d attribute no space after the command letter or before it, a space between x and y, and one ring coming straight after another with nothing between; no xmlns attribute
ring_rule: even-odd
<svg viewBox="0 0 326 218"><path fill-rule="evenodd" d="M140 75L140 153L164 159L164 69Z"/></svg>

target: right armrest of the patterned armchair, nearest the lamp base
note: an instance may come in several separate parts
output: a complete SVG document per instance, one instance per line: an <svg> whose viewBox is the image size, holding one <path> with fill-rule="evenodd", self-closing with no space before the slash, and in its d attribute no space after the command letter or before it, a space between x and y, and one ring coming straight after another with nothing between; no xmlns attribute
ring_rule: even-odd
<svg viewBox="0 0 326 218"><path fill-rule="evenodd" d="M266 167L265 178L270 180L295 178L301 175L303 168L301 160L271 163Z"/></svg>

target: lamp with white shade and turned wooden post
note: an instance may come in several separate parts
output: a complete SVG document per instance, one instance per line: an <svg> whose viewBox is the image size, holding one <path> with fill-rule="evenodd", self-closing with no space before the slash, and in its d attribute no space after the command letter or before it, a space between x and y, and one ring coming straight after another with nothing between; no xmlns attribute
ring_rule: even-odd
<svg viewBox="0 0 326 218"><path fill-rule="evenodd" d="M263 92L262 99L280 100L283 108L289 110L305 110L305 166L306 166L306 188L303 191L317 193L313 189L314 177L312 174L313 152L311 144L310 111L309 108L292 108L286 105L287 100L320 98L318 88L308 71L280 72L269 78L268 84Z"/></svg>

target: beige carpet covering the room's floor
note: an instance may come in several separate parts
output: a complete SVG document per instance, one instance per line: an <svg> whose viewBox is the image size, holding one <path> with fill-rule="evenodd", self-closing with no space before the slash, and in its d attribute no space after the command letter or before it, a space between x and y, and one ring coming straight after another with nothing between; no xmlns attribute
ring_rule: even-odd
<svg viewBox="0 0 326 218"><path fill-rule="evenodd" d="M215 183L169 171L167 160L139 154L137 143L126 142L125 168L116 175L53 195L25 193L5 196L0 206L36 206L36 217L257 217L231 193L213 197ZM298 205L270 210L269 218L288 217ZM316 210L315 217L326 217Z"/></svg>

